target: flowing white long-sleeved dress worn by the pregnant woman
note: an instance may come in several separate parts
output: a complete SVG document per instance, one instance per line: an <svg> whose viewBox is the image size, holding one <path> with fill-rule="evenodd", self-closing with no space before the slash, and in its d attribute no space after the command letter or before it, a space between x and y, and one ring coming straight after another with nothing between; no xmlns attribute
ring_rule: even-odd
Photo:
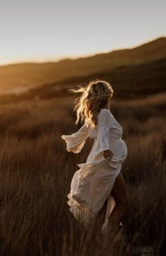
<svg viewBox="0 0 166 256"><path fill-rule="evenodd" d="M95 217L108 198L106 216L101 230L107 227L110 213L115 207L111 190L115 178L120 173L122 161L127 157L127 146L122 140L122 126L116 121L108 109L101 109L98 114L96 130L84 125L72 135L61 135L65 140L68 152L79 153L84 147L88 137L94 139L94 145L87 157L86 163L77 164L79 169L75 172L68 205L70 212L85 226L91 217ZM113 157L103 157L103 150L111 150Z"/></svg>

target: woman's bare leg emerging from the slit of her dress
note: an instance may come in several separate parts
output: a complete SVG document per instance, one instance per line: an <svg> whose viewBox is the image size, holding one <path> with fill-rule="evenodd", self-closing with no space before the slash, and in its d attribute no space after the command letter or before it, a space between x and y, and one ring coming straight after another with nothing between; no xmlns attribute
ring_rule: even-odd
<svg viewBox="0 0 166 256"><path fill-rule="evenodd" d="M111 191L111 195L113 195L113 199L115 200L116 205L113 209L113 212L110 214L108 225L115 225L118 227L122 216L129 205L129 196L122 173L117 176L113 190Z"/></svg>

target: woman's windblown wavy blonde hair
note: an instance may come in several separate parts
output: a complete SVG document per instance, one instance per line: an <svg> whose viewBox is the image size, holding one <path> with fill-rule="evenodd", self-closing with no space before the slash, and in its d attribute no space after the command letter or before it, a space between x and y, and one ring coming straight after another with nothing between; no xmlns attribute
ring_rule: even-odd
<svg viewBox="0 0 166 256"><path fill-rule="evenodd" d="M84 120L84 123L91 124L96 128L98 114L106 106L108 99L113 97L113 88L106 80L91 80L85 87L80 87L78 90L70 89L75 93L82 93L81 97L75 99L75 108L73 111L77 112L77 120L75 124Z"/></svg>

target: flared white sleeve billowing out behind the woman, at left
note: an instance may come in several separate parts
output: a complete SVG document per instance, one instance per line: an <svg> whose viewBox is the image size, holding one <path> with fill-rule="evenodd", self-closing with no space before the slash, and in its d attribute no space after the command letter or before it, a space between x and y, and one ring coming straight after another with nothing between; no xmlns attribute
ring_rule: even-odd
<svg viewBox="0 0 166 256"><path fill-rule="evenodd" d="M61 138L66 142L66 150L68 152L79 153L84 147L84 143L89 137L88 128L86 124L77 131L77 133L72 133L71 135L61 135Z"/></svg>

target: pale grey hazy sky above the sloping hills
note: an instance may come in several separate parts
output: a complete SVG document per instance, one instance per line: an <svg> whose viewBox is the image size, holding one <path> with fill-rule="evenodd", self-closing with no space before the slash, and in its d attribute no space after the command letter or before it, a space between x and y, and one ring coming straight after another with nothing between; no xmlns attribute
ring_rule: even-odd
<svg viewBox="0 0 166 256"><path fill-rule="evenodd" d="M0 64L134 47L166 35L165 0L0 0Z"/></svg>

